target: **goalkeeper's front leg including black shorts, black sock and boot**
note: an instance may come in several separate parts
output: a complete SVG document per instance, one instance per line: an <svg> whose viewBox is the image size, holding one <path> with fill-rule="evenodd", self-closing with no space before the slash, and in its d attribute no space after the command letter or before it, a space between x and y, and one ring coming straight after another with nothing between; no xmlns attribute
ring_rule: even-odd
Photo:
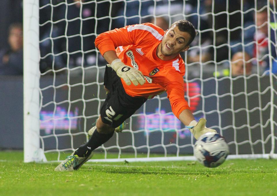
<svg viewBox="0 0 277 196"><path fill-rule="evenodd" d="M115 128L122 125L147 100L144 97L127 95L118 77L113 80L112 84L110 83L109 90L91 138L57 166L55 171L79 169L92 157L93 150L108 141L113 136Z"/></svg>

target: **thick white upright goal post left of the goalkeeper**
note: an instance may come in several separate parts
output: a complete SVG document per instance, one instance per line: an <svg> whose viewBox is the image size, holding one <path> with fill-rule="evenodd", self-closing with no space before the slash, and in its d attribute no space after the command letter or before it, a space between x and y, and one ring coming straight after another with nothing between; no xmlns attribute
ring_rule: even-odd
<svg viewBox="0 0 277 196"><path fill-rule="evenodd" d="M39 0L23 1L24 162L42 161L40 150Z"/></svg>

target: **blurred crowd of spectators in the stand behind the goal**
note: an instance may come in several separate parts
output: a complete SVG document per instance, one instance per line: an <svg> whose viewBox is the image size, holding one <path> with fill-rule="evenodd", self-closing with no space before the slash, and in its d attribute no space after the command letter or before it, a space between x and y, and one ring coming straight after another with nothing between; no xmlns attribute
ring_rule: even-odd
<svg viewBox="0 0 277 196"><path fill-rule="evenodd" d="M1 33L0 75L23 74L22 2L0 1L5 21L0 25L7 29ZM190 50L182 54L187 65L201 64L204 72L212 65L217 67L213 74L220 77L269 73L271 63L277 73L277 0L270 0L269 10L266 0L51 2L52 6L50 0L40 0L41 72L105 65L94 40L110 29L152 22L166 30L176 20L186 19L199 30Z"/></svg>

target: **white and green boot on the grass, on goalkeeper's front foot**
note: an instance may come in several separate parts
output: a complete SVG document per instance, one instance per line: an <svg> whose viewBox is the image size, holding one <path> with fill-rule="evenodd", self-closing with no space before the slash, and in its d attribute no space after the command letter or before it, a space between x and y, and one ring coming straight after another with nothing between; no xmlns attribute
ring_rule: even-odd
<svg viewBox="0 0 277 196"><path fill-rule="evenodd" d="M88 157L79 157L77 154L74 155L74 152L72 152L72 154L70 156L66 157L66 159L55 168L55 171L78 170L92 156L93 156L93 152L91 152Z"/></svg>

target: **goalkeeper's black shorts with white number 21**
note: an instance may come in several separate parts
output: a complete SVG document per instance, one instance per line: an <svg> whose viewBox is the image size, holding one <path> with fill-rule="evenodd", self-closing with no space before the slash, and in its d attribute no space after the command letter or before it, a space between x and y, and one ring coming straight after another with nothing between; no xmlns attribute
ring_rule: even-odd
<svg viewBox="0 0 277 196"><path fill-rule="evenodd" d="M102 122L113 128L118 127L124 120L132 116L147 100L145 97L127 95L120 78L111 67L106 66L104 86L109 93L100 109L100 115Z"/></svg>

